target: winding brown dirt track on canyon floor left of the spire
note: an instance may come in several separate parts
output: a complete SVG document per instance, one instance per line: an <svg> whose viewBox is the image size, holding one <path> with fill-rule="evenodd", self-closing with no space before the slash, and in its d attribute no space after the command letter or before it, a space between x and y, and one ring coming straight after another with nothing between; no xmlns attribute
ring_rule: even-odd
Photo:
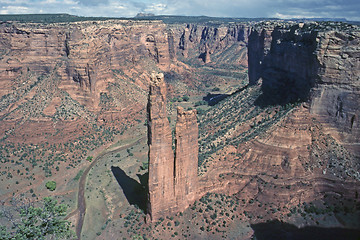
<svg viewBox="0 0 360 240"><path fill-rule="evenodd" d="M139 144L142 140L144 140L146 137L139 138L133 143L129 143L120 147L117 147L115 149L112 149L110 151L104 151L103 153L99 154L93 162L85 169L84 173L82 174L80 181L79 181L79 191L78 191L78 206L77 209L75 209L73 212L71 212L65 219L69 219L70 217L74 215L78 215L78 223L76 226L76 236L77 239L81 239L81 231L84 224L85 219L85 213L86 213L86 202L85 202L85 183L88 173L90 172L91 168L98 162L99 159L104 157L107 154L115 153L118 151L125 150L127 148L130 148L136 144Z"/></svg>

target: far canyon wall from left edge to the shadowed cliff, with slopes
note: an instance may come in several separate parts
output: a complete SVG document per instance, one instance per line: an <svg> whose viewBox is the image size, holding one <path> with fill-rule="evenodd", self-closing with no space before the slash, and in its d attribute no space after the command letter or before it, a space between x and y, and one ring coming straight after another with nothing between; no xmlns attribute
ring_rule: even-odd
<svg viewBox="0 0 360 240"><path fill-rule="evenodd" d="M44 128L59 121L108 125L129 116L139 118L145 112L150 72L187 76L185 82L173 83L173 88L185 84L199 89L198 70L182 61L199 64L203 55L212 64L226 59L233 66L246 66L247 36L248 27L242 23L3 22L1 137L26 132L23 126L28 121Z"/></svg>

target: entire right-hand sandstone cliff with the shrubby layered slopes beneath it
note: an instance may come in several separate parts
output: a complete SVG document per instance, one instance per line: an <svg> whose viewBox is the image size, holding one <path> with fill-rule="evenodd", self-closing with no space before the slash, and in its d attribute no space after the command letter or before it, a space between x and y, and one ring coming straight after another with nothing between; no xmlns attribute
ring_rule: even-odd
<svg viewBox="0 0 360 240"><path fill-rule="evenodd" d="M278 209L358 201L359 52L357 26L254 26L250 85L200 118L199 195L236 194L246 211L254 199Z"/></svg>

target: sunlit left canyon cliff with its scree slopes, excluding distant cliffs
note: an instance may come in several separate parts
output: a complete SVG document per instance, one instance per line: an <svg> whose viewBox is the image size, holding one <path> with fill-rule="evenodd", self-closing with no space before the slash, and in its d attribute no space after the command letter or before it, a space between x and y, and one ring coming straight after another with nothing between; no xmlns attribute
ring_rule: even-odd
<svg viewBox="0 0 360 240"><path fill-rule="evenodd" d="M3 23L0 47L5 121L113 121L125 108L146 106L144 70L171 62L166 25L156 21Z"/></svg>

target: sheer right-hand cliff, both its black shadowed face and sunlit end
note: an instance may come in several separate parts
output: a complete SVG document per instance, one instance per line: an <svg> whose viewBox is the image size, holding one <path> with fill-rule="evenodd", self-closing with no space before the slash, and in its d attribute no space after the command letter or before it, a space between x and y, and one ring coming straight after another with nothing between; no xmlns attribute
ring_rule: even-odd
<svg viewBox="0 0 360 240"><path fill-rule="evenodd" d="M269 99L308 100L327 130L359 152L359 29L313 25L254 28L249 37L249 81L262 80ZM357 149L357 150L356 150Z"/></svg>

